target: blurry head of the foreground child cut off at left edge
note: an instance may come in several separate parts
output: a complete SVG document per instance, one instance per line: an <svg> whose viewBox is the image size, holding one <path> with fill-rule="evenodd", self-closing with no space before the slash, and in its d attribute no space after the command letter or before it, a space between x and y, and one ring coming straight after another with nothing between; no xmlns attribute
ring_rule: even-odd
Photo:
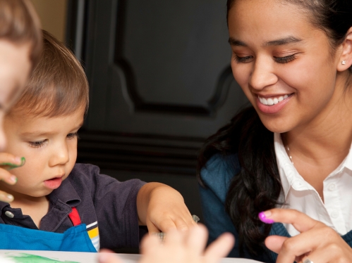
<svg viewBox="0 0 352 263"><path fill-rule="evenodd" d="M4 114L11 108L40 59L42 32L29 0L0 0L0 150Z"/></svg>

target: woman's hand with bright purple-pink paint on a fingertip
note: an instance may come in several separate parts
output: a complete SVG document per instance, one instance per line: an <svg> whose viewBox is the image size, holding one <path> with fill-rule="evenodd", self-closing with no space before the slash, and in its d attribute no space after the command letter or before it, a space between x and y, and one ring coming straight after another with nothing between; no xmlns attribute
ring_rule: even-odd
<svg viewBox="0 0 352 263"><path fill-rule="evenodd" d="M264 214L267 220L292 224L301 232L292 238L267 237L267 248L279 254L277 263L304 262L307 258L314 263L352 262L352 248L334 229L322 222L296 210L272 209Z"/></svg>

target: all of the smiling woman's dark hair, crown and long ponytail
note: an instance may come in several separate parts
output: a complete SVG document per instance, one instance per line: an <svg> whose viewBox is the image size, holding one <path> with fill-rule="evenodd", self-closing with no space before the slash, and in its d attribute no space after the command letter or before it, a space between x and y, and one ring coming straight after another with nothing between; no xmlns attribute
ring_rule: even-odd
<svg viewBox="0 0 352 263"><path fill-rule="evenodd" d="M235 1L227 1L227 13ZM346 32L352 27L352 0L281 1L308 11L313 25L327 33L332 51L344 41ZM352 68L349 72L352 73ZM243 253L245 246L257 255L264 250L263 241L270 231L269 225L260 222L258 213L274 208L281 191L274 134L265 128L253 107L242 110L207 139L200 150L197 174L201 184L200 170L216 153L238 155L241 171L233 174L226 195L226 211L238 231L240 252Z"/></svg>

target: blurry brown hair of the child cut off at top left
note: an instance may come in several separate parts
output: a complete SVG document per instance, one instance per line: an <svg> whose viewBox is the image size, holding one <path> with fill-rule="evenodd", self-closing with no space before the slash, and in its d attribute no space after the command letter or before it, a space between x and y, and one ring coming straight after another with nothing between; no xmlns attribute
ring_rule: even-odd
<svg viewBox="0 0 352 263"><path fill-rule="evenodd" d="M32 67L40 59L40 20L29 0L0 0L0 39L13 44L30 43Z"/></svg>

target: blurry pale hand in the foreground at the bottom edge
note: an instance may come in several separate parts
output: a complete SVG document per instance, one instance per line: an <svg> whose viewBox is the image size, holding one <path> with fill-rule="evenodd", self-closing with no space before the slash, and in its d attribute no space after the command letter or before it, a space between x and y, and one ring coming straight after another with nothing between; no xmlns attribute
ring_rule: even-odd
<svg viewBox="0 0 352 263"><path fill-rule="evenodd" d="M188 232L172 230L164 243L157 236L145 236L138 263L217 263L226 257L234 244L230 233L224 233L205 250L207 229L194 226ZM114 255L99 255L99 263L122 263Z"/></svg>

